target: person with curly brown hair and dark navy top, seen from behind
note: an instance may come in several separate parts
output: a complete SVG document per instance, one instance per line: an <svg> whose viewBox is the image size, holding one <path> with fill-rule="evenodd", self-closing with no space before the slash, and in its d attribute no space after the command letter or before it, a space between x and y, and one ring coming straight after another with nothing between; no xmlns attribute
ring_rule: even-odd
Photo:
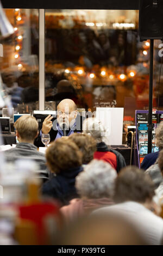
<svg viewBox="0 0 163 256"><path fill-rule="evenodd" d="M76 176L83 170L82 153L75 143L60 138L46 150L46 160L53 176L43 185L42 194L66 205L78 197L74 184Z"/></svg>

